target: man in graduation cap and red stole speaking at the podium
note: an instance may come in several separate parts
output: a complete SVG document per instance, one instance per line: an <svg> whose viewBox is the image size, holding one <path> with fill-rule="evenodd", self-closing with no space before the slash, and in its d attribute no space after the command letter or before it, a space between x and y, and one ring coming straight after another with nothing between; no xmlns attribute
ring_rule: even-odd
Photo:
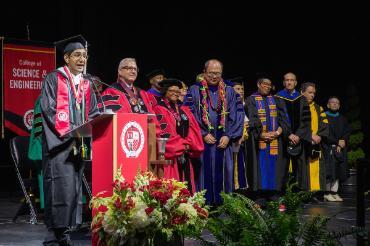
<svg viewBox="0 0 370 246"><path fill-rule="evenodd" d="M42 152L45 191L44 245L72 245L71 227L82 223L82 175L86 146L68 133L99 115L91 81L84 79L87 51L68 40L65 66L49 73L41 92Z"/></svg>

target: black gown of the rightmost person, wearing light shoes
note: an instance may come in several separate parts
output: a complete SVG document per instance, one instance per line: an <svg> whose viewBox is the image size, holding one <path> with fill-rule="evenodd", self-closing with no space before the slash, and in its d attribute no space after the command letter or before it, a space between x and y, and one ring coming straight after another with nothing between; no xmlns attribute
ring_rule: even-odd
<svg viewBox="0 0 370 246"><path fill-rule="evenodd" d="M326 178L330 181L345 181L349 170L347 163L347 145L351 134L351 127L347 119L339 114L331 116L327 114L329 122L329 136L323 139L323 150L325 157ZM336 153L339 140L346 142L346 147L341 153Z"/></svg>

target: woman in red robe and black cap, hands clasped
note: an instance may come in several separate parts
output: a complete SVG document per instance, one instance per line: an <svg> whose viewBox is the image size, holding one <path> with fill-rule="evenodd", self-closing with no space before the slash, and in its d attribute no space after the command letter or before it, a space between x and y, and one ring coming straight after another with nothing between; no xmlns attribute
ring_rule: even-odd
<svg viewBox="0 0 370 246"><path fill-rule="evenodd" d="M182 84L177 79L160 82L161 99L153 108L160 124L160 136L168 138L165 158L173 163L164 167L164 178L187 181L188 188L195 192L192 158L199 158L204 150L199 125L187 106L178 102Z"/></svg>

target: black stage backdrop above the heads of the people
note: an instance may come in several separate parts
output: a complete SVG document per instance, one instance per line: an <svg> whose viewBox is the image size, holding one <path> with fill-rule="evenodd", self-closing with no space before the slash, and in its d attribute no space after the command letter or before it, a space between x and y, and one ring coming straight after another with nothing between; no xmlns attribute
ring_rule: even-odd
<svg viewBox="0 0 370 246"><path fill-rule="evenodd" d="M204 62L218 58L224 63L224 78L246 79L246 95L255 90L257 73L269 74L277 89L288 71L297 75L299 83L313 81L318 86L316 101L323 106L331 95L342 98L345 106L349 86L355 86L362 103L364 149L369 150L365 88L369 81L370 15L364 6L324 9L302 5L292 10L285 6L232 6L228 2L177 8L144 3L131 7L125 2L122 7L108 2L105 6L55 3L54 7L38 3L3 6L0 36L27 39L27 24L32 40L54 42L82 34L90 43L88 73L107 83L115 81L118 63L124 57L137 58L140 72L136 85L143 88L148 88L144 75L154 68L164 68L168 77L191 85ZM2 141L0 165L8 161L7 156L8 146Z"/></svg>

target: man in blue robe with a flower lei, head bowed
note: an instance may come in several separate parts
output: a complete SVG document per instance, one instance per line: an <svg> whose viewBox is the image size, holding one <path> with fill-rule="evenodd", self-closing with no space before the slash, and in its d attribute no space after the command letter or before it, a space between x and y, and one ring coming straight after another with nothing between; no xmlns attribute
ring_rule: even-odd
<svg viewBox="0 0 370 246"><path fill-rule="evenodd" d="M209 204L220 204L221 191L233 190L232 142L243 134L244 109L234 89L222 79L223 66L216 59L204 66L204 79L191 86L186 96L205 145L201 157L200 184Z"/></svg>

